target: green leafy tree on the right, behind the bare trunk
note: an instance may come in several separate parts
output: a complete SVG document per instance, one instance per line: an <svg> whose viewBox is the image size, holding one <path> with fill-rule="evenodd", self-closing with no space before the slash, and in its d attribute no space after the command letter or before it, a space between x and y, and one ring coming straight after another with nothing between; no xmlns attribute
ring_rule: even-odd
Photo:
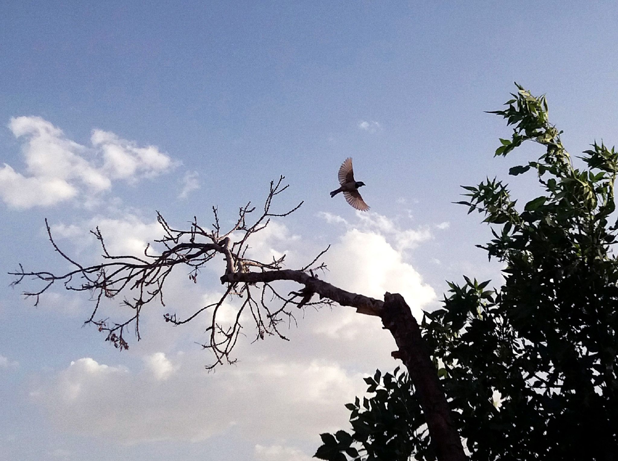
<svg viewBox="0 0 618 461"><path fill-rule="evenodd" d="M544 96L517 89L506 109L491 112L514 125L496 156L540 144L543 155L510 174L535 172L543 194L521 207L502 181L464 187L459 203L492 226L493 239L480 247L504 263L505 281L495 291L467 277L449 283L444 307L423 318L423 340L471 459L615 460L618 222L609 219L618 152L594 143L575 168ZM435 459L407 375L366 381L373 396L346 405L352 432L322 434L315 456Z"/></svg>

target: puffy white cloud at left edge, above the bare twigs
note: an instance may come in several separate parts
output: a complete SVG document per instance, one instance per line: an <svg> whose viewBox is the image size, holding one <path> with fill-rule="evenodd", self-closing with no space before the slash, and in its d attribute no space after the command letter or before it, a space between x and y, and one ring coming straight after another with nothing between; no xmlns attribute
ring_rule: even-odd
<svg viewBox="0 0 618 461"><path fill-rule="evenodd" d="M41 117L14 117L9 129L23 141L25 171L0 168L0 197L7 206L48 207L107 191L114 180L135 183L172 166L155 146L138 147L108 131L93 130L92 147L68 139Z"/></svg>

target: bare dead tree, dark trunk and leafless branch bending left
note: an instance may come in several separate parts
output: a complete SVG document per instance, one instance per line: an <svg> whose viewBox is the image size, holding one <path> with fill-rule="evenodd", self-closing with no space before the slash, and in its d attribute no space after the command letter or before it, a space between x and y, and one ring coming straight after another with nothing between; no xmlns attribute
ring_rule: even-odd
<svg viewBox="0 0 618 461"><path fill-rule="evenodd" d="M47 271L27 272L22 265L19 265L19 270L11 272L11 275L16 276L12 286L22 283L24 278L42 281L43 288L24 293L26 297L35 298L35 305L38 304L41 294L48 291L54 283L62 283L69 291L88 291L95 305L85 324L92 323L99 331L106 332L106 341L122 350L129 348L124 334L131 326L135 329L137 339L140 339L140 315L143 307L155 300L165 305L164 284L167 276L176 266L188 268L189 279L197 283L200 269L220 255L226 262L226 268L219 281L226 286L226 289L218 301L197 309L182 320L179 320L176 314L168 313L163 316L166 322L178 326L191 322L204 312L210 313L210 324L206 328L208 340L201 346L213 353L214 362L206 368L211 369L222 363L235 363L236 359L231 356L231 353L237 344L239 335L243 334L241 324L244 318L243 313L250 314L252 323L255 325L254 341L264 339L266 336L278 336L287 340L279 330L279 325L286 320L288 325L291 325L292 321L296 322L294 312L298 312L297 309L334 303L354 307L360 314L381 317L384 327L391 331L396 339L400 350L394 352L393 355L404 360L415 388L418 389L421 405L428 418L428 429L432 441L438 447L438 459L465 459L459 434L452 426L450 410L436 369L431 363L428 351L424 349L420 330L412 317L410 308L401 296L387 293L385 305L378 299L351 293L320 280L315 272L327 270L326 265L320 263L319 260L330 246L298 270L284 268L285 255L279 258L273 257L272 261L260 261L247 257L249 239L266 228L271 218L287 217L302 206L303 202L300 202L287 212L271 210L274 197L288 188L287 185L282 185L283 180L284 177L280 177L276 183L271 181L263 212L256 217L253 223L248 224L248 220L256 208L248 202L244 207L240 207L237 220L224 234L221 231L216 207L213 207L214 223L208 231L198 224L195 216L189 222L187 230L172 228L157 212L157 220L163 230L163 237L155 240L155 243L163 248L163 251L159 253L148 244L144 249L143 257L109 254L103 235L97 227L91 233L101 245L103 261L88 267L75 262L57 246L49 223L45 220L49 241L54 249L75 268L66 273L54 274ZM282 296L275 286L276 282L281 281L292 281L300 287L295 291L290 291L287 297ZM95 320L101 301L104 298L113 299L121 293L124 294L121 304L130 312L128 318L121 322L113 322L109 318ZM318 299L312 302L316 294ZM242 302L237 308L234 322L231 325L222 325L218 322L219 310L226 301L231 301L232 298L242 299ZM290 309L294 307L295 310ZM245 315L245 317L248 316Z"/></svg>

